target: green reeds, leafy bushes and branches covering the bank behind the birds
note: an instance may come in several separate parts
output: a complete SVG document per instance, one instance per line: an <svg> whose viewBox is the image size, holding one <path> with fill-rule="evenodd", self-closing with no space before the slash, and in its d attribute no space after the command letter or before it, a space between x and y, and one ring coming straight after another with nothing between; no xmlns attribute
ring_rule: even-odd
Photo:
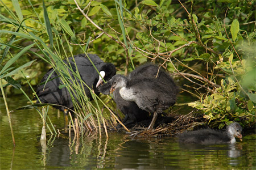
<svg viewBox="0 0 256 170"><path fill-rule="evenodd" d="M71 79L63 59L79 53L97 54L119 74L157 63L173 73L181 94L197 98L184 103L203 114L209 126L221 129L238 121L244 128L255 127L255 1L0 3L2 95L21 93L38 109L30 99L53 67L65 82L60 88L79 91L73 96L80 103L75 131L105 129L107 134L121 117L109 108L110 98L93 95L89 101ZM47 111L38 112L53 133Z"/></svg>

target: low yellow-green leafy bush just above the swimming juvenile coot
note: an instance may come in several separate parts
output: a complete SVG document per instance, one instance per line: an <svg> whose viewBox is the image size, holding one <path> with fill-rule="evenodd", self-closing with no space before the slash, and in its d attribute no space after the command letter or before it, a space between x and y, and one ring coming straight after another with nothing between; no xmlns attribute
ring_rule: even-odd
<svg viewBox="0 0 256 170"><path fill-rule="evenodd" d="M256 109L248 95L229 77L221 80L221 87L216 89L216 93L202 96L200 101L189 105L202 111L213 127L222 128L230 121L239 121L249 128L255 126Z"/></svg>

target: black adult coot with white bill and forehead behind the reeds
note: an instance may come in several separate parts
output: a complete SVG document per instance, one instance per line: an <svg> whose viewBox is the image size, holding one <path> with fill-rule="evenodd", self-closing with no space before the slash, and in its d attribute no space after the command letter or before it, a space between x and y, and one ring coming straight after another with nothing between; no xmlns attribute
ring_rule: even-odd
<svg viewBox="0 0 256 170"><path fill-rule="evenodd" d="M115 75L115 66L112 63L105 63L103 62L100 57L98 57L96 54L88 54L88 57L92 60L94 65L96 66L97 70L100 72L101 76L104 77L105 80L108 80L112 78L113 75ZM79 71L79 74L81 76L81 79L91 88L94 90L95 94L98 95L100 92L96 88L101 82L102 78L97 73L96 69L94 69L92 63L89 61L88 57L86 57L85 54L78 54L77 56L74 56L77 69ZM64 61L67 63L67 61ZM71 68L75 72L76 66L75 62L73 61L73 58L69 58L69 63L71 63ZM52 73L53 71L53 73ZM40 101L42 103L50 103L50 104L58 104L63 105L67 108L73 109L73 103L71 99L71 95L69 94L69 91L67 88L59 88L61 84L64 84L59 75L53 70L50 69L42 78L41 83L46 82L48 76L51 75L49 78L49 81L45 84L42 84L38 86L38 89L36 90L36 94L38 95ZM71 71L69 72L71 75ZM72 78L75 79L75 76L72 75ZM81 84L81 82L78 82ZM89 98L92 97L90 94L90 90L84 85L84 90L86 96ZM36 99L36 97L35 97ZM37 100L36 103L39 103ZM61 111L64 111L64 107L57 107L55 108L60 109Z"/></svg>

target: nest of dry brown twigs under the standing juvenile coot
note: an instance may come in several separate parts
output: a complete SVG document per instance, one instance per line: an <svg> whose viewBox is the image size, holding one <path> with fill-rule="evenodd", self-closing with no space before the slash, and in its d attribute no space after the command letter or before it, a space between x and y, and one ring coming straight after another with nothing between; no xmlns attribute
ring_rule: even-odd
<svg viewBox="0 0 256 170"><path fill-rule="evenodd" d="M159 117L156 120L157 128L147 130L144 126L145 122L141 122L131 128L133 137L163 137L175 136L185 130L195 130L207 126L207 121L202 115L198 115L193 111L185 115L171 115L168 117Z"/></svg>

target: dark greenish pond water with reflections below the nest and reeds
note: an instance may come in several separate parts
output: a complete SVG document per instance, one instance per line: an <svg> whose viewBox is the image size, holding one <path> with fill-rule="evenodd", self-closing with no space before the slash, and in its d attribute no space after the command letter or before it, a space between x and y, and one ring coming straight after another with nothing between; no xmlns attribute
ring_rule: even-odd
<svg viewBox="0 0 256 170"><path fill-rule="evenodd" d="M22 97L23 98L23 97ZM26 105L20 97L8 99L11 109ZM88 135L47 137L40 145L42 121L33 110L11 114L16 147L13 147L5 105L1 99L0 169L256 169L256 135L246 135L234 145L179 145L177 139L139 138L109 133L109 139ZM56 128L64 118L51 109Z"/></svg>

